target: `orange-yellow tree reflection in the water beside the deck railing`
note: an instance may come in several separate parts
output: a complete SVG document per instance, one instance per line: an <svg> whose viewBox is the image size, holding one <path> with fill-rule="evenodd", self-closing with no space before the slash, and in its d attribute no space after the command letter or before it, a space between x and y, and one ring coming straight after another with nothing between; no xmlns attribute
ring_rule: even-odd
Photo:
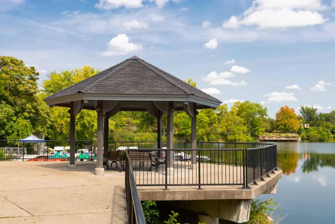
<svg viewBox="0 0 335 224"><path fill-rule="evenodd" d="M295 173L295 169L298 167L299 158L300 155L294 152L278 152L278 167L283 171L284 175L289 176L291 173Z"/></svg>

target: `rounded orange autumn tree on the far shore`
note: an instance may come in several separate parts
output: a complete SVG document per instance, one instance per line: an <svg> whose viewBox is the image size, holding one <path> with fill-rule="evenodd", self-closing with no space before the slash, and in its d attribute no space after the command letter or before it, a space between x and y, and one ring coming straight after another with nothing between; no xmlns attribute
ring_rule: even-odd
<svg viewBox="0 0 335 224"><path fill-rule="evenodd" d="M281 107L276 113L276 129L280 132L294 132L299 128L298 116L295 114L294 108L287 105Z"/></svg>

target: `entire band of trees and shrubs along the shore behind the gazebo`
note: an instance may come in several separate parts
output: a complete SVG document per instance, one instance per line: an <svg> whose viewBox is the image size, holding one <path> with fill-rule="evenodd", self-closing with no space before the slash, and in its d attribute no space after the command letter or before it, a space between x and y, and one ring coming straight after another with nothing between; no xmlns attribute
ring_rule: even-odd
<svg viewBox="0 0 335 224"><path fill-rule="evenodd" d="M0 139L17 140L34 134L39 138L69 139L68 108L49 108L43 101L62 89L86 79L99 70L85 65L74 70L50 72L37 80L39 72L22 60L0 56ZM196 87L190 78L189 85ZM267 108L250 101L227 104L216 110L198 110L197 141L255 142L261 135L295 135L303 142L334 142L335 110L319 113L317 108L282 106L275 118ZM96 140L96 112L82 110L76 116L76 139ZM166 115L162 118L162 140L166 141ZM120 111L109 119L110 141L157 141L157 121L147 112ZM184 111L174 113L174 141L191 140L191 118ZM268 133L268 134L267 134Z"/></svg>

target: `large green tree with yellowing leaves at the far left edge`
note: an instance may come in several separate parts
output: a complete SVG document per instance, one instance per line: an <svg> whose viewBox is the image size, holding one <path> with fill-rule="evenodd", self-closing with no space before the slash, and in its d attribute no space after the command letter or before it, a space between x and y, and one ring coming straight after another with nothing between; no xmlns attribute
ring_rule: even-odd
<svg viewBox="0 0 335 224"><path fill-rule="evenodd" d="M20 139L43 133L49 107L39 97L39 73L22 60L0 56L0 138Z"/></svg>

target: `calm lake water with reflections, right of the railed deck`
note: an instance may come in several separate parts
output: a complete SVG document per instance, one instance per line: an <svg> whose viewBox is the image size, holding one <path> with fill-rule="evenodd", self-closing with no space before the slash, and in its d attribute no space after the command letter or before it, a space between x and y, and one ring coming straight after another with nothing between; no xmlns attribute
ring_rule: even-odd
<svg viewBox="0 0 335 224"><path fill-rule="evenodd" d="M278 167L283 178L276 194L282 223L335 223L335 143L279 142Z"/></svg>

